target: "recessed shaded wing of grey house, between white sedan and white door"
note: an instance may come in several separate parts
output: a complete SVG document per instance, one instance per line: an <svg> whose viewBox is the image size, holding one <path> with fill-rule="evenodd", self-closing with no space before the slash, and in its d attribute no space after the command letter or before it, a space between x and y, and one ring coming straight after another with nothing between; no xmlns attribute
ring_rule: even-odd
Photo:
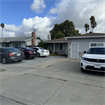
<svg viewBox="0 0 105 105"><path fill-rule="evenodd" d="M51 53L68 54L68 41L65 38L44 41Z"/></svg>

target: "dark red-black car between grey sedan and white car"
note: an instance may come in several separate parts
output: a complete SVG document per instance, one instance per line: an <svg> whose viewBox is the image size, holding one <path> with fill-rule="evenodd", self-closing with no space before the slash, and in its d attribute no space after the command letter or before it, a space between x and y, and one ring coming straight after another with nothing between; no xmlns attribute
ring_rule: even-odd
<svg viewBox="0 0 105 105"><path fill-rule="evenodd" d="M20 51L24 52L25 58L32 58L34 59L36 56L38 56L37 50L34 50L32 48L28 47L17 47Z"/></svg>

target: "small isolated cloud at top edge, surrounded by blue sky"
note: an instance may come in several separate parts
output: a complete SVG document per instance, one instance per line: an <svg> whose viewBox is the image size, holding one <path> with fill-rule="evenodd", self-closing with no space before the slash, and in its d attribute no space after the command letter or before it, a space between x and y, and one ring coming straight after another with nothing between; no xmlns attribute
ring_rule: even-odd
<svg viewBox="0 0 105 105"><path fill-rule="evenodd" d="M43 0L33 0L31 9L34 10L36 13L41 13L44 8L46 8L46 4Z"/></svg>

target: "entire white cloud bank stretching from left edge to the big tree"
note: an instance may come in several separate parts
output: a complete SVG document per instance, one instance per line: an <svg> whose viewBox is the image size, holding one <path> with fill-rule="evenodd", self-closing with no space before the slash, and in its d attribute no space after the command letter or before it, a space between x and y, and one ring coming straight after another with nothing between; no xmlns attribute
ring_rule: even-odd
<svg viewBox="0 0 105 105"><path fill-rule="evenodd" d="M31 36L31 33L33 31L32 28L37 29L36 30L36 36L40 37L42 40L47 39L47 35L49 34L49 31L52 29L50 27L51 19L48 17L33 17L26 19L24 18L22 21L21 26L15 26L13 25L6 25L3 29L3 36L4 37L23 37L23 36ZM0 34L2 34L2 28L0 30ZM1 36L1 35L0 35Z"/></svg>

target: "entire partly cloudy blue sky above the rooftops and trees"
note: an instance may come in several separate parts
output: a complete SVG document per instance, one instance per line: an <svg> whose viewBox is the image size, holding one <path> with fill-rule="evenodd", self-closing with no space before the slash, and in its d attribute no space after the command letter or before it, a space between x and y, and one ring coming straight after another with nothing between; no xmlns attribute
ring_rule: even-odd
<svg viewBox="0 0 105 105"><path fill-rule="evenodd" d="M91 16L97 22L93 32L105 33L105 0L0 0L3 37L31 36L34 28L36 36L47 40L54 24L65 20L73 21L75 29L85 34L84 25L90 25Z"/></svg>

